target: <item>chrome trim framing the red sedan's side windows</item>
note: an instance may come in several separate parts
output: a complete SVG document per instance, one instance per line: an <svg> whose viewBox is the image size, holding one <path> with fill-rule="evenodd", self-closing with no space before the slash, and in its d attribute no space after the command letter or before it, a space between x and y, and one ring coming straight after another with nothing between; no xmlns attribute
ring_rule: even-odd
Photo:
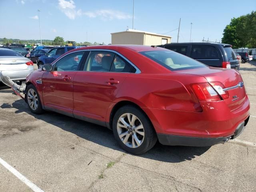
<svg viewBox="0 0 256 192"><path fill-rule="evenodd" d="M130 62L130 60L128 60L125 56L123 56L122 54L120 54L119 52L116 52L116 51L114 51L114 50L110 50L110 49L83 49L83 50L77 50L77 51L73 51L73 52L70 52L70 53L68 53L68 54L66 54L66 55L64 55L64 56L61 56L60 58L58 58L53 64L52 64L52 66L53 66L53 69L54 69L54 67L55 67L55 65L56 65L56 63L60 60L60 59L62 59L63 57L65 57L65 56L67 56L67 55L69 55L69 54L72 54L72 53L75 53L75 52L81 52L81 51L108 51L108 52L113 52L113 53L115 53L115 54L117 54L118 56L120 56L120 57L122 57L124 60L126 60L129 64L131 64L135 69L136 69L136 72L135 73L141 73L141 71L140 71L140 69L136 66L136 65L134 65L132 62ZM90 55L90 53L89 53L89 55ZM89 55L88 55L88 57L89 57ZM87 57L87 59L88 59L88 57ZM86 59L86 62L87 62L87 59ZM84 71L84 70L83 70ZM94 71L95 72L95 71ZM104 71L102 71L102 72L104 72ZM109 72L111 72L111 71L109 71ZM116 73L116 72L111 72L111 73ZM118 72L119 73L119 72ZM130 73L130 72L120 72L120 73ZM134 74L134 73L132 73L132 74Z"/></svg>

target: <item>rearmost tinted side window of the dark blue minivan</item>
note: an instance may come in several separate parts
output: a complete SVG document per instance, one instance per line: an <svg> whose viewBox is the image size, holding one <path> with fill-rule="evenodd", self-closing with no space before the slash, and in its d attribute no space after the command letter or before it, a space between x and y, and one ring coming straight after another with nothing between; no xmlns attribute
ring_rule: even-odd
<svg viewBox="0 0 256 192"><path fill-rule="evenodd" d="M219 59L218 51L213 46L192 45L191 58L193 59Z"/></svg>

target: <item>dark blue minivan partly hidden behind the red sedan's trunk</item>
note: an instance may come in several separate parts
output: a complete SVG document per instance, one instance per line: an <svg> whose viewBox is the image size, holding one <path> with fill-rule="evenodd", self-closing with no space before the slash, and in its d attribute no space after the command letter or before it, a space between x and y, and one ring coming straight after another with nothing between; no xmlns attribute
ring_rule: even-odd
<svg viewBox="0 0 256 192"><path fill-rule="evenodd" d="M159 45L198 60L208 66L239 70L232 45L220 43L171 43Z"/></svg>

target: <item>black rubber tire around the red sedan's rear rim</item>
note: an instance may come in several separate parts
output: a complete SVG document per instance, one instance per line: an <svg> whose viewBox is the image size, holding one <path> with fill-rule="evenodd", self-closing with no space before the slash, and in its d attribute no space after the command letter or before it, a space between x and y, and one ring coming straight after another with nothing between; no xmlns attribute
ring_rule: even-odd
<svg viewBox="0 0 256 192"><path fill-rule="evenodd" d="M118 119L120 118L120 116L122 116L123 114L126 114L126 113L135 115L138 118L138 120L141 122L141 124L144 128L144 139L142 141L142 144L136 148L131 148L131 147L127 146L119 138L118 128L117 128ZM123 106L117 110L117 112L115 113L114 118L113 118L112 128L113 128L114 137L115 137L116 141L118 142L118 144L124 150L126 150L127 152L132 153L132 154L139 155L139 154L143 154L143 153L147 152L156 144L156 141L157 141L156 132L155 132L154 127L152 126L149 118L146 116L146 114L144 114L144 112L142 112L142 110L140 110L139 108L136 108L134 106L131 106L131 105Z"/></svg>

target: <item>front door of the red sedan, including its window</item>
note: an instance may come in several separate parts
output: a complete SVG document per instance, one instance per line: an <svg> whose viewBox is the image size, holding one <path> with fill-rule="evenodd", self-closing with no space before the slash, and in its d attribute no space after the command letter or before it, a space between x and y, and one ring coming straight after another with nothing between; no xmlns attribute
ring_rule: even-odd
<svg viewBox="0 0 256 192"><path fill-rule="evenodd" d="M74 108L73 80L84 51L70 53L53 65L53 70L42 76L42 94L46 108L70 115Z"/></svg>

